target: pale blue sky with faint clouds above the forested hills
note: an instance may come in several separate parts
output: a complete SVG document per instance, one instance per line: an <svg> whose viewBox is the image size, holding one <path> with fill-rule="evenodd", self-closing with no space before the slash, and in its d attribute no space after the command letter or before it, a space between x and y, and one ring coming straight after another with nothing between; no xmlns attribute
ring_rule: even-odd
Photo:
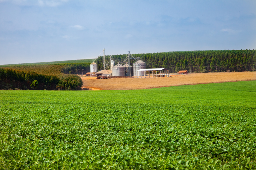
<svg viewBox="0 0 256 170"><path fill-rule="evenodd" d="M255 0L0 0L0 65L256 49Z"/></svg>

